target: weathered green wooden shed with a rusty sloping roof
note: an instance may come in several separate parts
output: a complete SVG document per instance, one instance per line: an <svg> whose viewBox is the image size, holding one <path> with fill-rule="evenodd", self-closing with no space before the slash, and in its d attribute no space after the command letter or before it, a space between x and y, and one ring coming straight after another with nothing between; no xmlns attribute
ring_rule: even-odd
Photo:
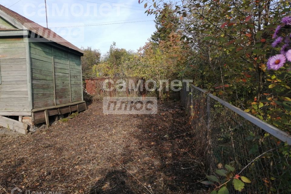
<svg viewBox="0 0 291 194"><path fill-rule="evenodd" d="M0 5L0 125L26 134L50 116L85 110L81 56L52 30Z"/></svg>

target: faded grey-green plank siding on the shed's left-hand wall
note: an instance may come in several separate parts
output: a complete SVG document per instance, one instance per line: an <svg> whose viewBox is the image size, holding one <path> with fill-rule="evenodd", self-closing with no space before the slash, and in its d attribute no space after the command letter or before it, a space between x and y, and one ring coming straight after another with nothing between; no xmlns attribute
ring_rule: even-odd
<svg viewBox="0 0 291 194"><path fill-rule="evenodd" d="M23 38L0 38L0 112L27 112L28 85Z"/></svg>

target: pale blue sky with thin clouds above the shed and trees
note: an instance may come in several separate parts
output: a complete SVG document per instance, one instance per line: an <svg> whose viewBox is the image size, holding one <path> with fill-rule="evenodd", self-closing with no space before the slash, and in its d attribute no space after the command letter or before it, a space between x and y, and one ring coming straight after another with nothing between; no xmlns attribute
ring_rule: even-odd
<svg viewBox="0 0 291 194"><path fill-rule="evenodd" d="M44 1L0 0L0 4L46 27ZM137 51L156 30L154 16L147 16L138 0L46 1L49 28L79 48L89 46L105 54L116 42L118 48Z"/></svg>

